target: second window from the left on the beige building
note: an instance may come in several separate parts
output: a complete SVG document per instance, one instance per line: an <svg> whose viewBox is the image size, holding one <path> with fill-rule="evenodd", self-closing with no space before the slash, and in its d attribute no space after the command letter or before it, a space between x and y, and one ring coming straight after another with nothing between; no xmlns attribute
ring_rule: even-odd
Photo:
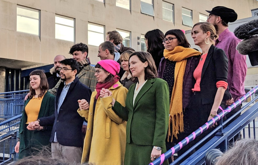
<svg viewBox="0 0 258 165"><path fill-rule="evenodd" d="M74 18L55 15L55 39L74 42Z"/></svg>

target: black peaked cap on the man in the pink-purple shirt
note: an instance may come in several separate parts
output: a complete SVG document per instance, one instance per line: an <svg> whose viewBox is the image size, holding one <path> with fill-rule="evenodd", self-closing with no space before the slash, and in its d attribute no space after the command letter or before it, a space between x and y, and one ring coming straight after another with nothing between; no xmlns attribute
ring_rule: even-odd
<svg viewBox="0 0 258 165"><path fill-rule="evenodd" d="M226 23L235 22L237 19L237 13L233 9L229 9L224 6L216 6L211 11L206 11L210 14L220 16Z"/></svg>

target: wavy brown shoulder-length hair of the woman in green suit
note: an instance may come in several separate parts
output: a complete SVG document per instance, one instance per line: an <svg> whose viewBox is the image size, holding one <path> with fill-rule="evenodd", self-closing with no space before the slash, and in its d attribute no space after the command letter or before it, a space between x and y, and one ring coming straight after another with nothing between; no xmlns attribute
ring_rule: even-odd
<svg viewBox="0 0 258 165"><path fill-rule="evenodd" d="M129 61L132 56L137 56L140 59L140 61L142 61L143 63L145 63L146 61L148 62L148 66L144 70L144 73L145 73L144 79L145 80L158 77L157 67L155 65L154 59L152 58L152 55L150 55L149 52L134 52L129 57ZM130 68L130 63L129 63L129 68ZM129 69L129 71L132 74L130 69ZM137 80L138 80L138 78L137 78Z"/></svg>

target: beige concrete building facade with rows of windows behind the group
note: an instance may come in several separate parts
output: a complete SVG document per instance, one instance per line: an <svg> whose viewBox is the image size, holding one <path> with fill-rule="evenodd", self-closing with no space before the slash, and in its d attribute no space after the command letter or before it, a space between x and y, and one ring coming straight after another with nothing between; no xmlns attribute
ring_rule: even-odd
<svg viewBox="0 0 258 165"><path fill-rule="evenodd" d="M71 58L68 52L75 43L87 44L91 63L96 64L98 45L108 31L118 30L126 46L141 51L147 31L190 30L191 24L205 21L205 10L215 6L232 8L242 19L252 16L258 1L0 0L0 84L8 79L6 68L53 64L58 54ZM3 91L7 89L1 85Z"/></svg>

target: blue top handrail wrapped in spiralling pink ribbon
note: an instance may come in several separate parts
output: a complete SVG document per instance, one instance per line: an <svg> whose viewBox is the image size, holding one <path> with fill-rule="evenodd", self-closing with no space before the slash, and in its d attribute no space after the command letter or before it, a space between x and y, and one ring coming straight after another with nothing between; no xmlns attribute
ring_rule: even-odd
<svg viewBox="0 0 258 165"><path fill-rule="evenodd" d="M248 97L250 97L252 94L254 94L256 91L258 91L258 85L255 86L253 89L251 89L249 92L247 92L243 97L238 99L236 102L228 106L226 109L224 109L221 113L217 114L214 118L206 122L203 126L198 128L196 131L194 131L189 136L185 137L182 141L180 141L177 145L169 149L166 153L161 154L161 156L154 160L153 162L149 163L150 165L161 165L165 160L167 160L169 157L171 157L174 153L177 153L181 148L186 146L189 142L193 141L197 136L205 132L210 126L215 124L215 122L221 120L224 115L229 113L232 109L236 108L238 105L242 104ZM221 127L223 129L223 127Z"/></svg>

